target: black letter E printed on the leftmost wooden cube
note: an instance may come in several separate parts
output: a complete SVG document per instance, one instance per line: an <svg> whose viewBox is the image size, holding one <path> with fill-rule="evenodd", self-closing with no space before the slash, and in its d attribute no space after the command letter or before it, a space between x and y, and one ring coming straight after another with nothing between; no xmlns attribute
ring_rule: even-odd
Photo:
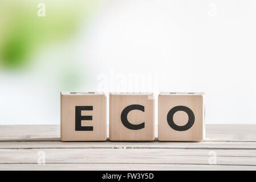
<svg viewBox="0 0 256 182"><path fill-rule="evenodd" d="M92 120L92 115L81 115L82 110L93 110L92 106L75 107L75 130L76 131L94 131L93 126L81 126L83 120Z"/></svg>

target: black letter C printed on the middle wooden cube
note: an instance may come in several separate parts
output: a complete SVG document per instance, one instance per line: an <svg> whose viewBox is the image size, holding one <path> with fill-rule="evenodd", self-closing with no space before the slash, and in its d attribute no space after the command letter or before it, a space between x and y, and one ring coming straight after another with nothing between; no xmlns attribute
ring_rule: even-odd
<svg viewBox="0 0 256 182"><path fill-rule="evenodd" d="M125 107L124 110L121 113L121 122L123 123L123 125L125 127L127 127L130 130L140 130L140 129L143 129L145 127L145 122L140 123L138 125L133 125L132 123L130 123L128 121L127 115L129 113L129 111L131 111L131 110L141 110L141 111L144 112L144 106L133 104L133 105L129 105L129 106Z"/></svg>

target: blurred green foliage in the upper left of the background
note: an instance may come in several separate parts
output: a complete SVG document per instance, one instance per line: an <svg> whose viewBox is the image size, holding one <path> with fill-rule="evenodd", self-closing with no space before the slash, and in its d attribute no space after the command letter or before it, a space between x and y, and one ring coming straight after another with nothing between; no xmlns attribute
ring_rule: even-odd
<svg viewBox="0 0 256 182"><path fill-rule="evenodd" d="M94 11L106 1L0 1L0 69L2 72L21 73L34 69L40 61L38 53L52 45L67 44L81 26L90 23ZM51 61L59 63L62 84L60 90L75 89L79 81L75 68L65 56ZM59 59L58 59L59 58ZM42 60L41 60L42 61ZM46 63L47 61L44 60Z"/></svg>

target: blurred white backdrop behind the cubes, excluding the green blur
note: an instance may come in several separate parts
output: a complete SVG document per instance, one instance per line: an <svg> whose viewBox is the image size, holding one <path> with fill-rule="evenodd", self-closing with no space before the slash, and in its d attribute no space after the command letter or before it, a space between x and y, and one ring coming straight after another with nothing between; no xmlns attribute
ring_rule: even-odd
<svg viewBox="0 0 256 182"><path fill-rule="evenodd" d="M73 43L87 81L63 91L205 92L206 124L256 124L255 9L245 0L109 1ZM6 77L0 124L59 124L61 90Z"/></svg>

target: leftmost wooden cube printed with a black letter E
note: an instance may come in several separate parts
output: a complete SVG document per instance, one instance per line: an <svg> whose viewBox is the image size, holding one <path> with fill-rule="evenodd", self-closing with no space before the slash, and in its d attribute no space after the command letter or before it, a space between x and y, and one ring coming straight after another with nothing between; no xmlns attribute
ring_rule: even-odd
<svg viewBox="0 0 256 182"><path fill-rule="evenodd" d="M107 139L107 102L100 92L60 93L60 139L102 141Z"/></svg>

